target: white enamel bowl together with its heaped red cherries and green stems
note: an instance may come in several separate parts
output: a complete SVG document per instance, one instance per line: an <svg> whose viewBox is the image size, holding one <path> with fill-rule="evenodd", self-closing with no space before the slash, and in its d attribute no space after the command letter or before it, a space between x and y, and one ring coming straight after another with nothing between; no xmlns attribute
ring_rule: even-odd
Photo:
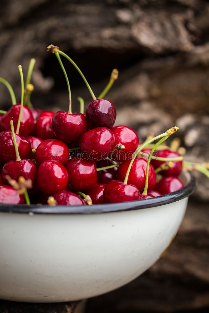
<svg viewBox="0 0 209 313"><path fill-rule="evenodd" d="M69 91L69 110L32 106L21 65L21 103L0 118L0 299L61 302L85 299L125 285L169 246L196 181L173 140L173 126L144 142L128 126L114 126L116 109L104 96L114 69L95 97L85 76L54 45ZM71 89L61 57L81 74L92 101L72 113ZM182 150L182 149L181 149Z"/></svg>

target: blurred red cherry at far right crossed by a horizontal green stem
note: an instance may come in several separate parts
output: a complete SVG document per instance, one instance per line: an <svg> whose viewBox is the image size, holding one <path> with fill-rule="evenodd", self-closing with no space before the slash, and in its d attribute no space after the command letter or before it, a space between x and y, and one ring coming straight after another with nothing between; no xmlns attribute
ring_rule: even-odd
<svg viewBox="0 0 209 313"><path fill-rule="evenodd" d="M166 158L172 158L172 157L178 157L180 154L178 152L172 152L168 149L161 150L157 152L158 157L166 157ZM179 176L181 171L182 171L182 161L172 161L173 162L173 167L169 168L167 170L161 171L160 175L162 176ZM165 161L158 161L158 160L153 160L152 164L154 168L158 168L160 165L165 163Z"/></svg>

